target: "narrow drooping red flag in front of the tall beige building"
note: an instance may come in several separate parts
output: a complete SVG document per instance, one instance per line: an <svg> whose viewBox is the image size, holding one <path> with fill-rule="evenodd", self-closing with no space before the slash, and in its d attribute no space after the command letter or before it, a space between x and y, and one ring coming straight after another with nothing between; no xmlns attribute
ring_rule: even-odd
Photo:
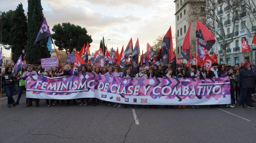
<svg viewBox="0 0 256 143"><path fill-rule="evenodd" d="M182 44L182 48L181 48L181 55L187 60L189 61L192 58L191 52L190 52L190 38L189 38L189 34L190 34L190 26L191 26L191 22L189 24L187 33L185 35L183 44Z"/></svg>

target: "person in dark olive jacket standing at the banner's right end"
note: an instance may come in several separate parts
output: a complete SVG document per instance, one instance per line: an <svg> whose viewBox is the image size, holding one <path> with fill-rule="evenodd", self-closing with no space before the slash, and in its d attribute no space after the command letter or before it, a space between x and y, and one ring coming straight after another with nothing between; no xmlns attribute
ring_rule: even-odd
<svg viewBox="0 0 256 143"><path fill-rule="evenodd" d="M233 69L232 68L227 68L227 73L225 74L224 77L229 77L230 79L230 93L231 93L231 99L232 99L232 103L230 105L226 105L226 107L230 107L230 108L234 108L236 105L236 98L235 98L235 89L236 89L236 85L238 82L238 78L236 76L236 74L233 73Z"/></svg>

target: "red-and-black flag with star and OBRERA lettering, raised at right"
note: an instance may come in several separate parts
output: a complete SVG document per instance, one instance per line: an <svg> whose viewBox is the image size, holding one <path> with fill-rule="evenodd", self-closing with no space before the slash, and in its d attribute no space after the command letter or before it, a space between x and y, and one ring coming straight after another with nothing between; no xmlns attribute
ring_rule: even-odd
<svg viewBox="0 0 256 143"><path fill-rule="evenodd" d="M197 19L196 25L196 38L200 46L204 47L207 50L210 50L213 44L216 42L212 32L203 25L203 23Z"/></svg>

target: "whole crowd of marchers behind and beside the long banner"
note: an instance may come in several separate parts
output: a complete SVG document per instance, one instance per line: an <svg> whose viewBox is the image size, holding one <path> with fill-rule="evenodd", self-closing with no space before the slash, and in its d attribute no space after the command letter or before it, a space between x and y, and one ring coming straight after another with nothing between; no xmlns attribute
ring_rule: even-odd
<svg viewBox="0 0 256 143"><path fill-rule="evenodd" d="M19 101L22 95L22 92L26 90L25 88L25 80L30 75L41 75L47 76L49 78L60 77L60 76L68 76L73 74L73 69L69 64L62 63L62 65L58 67L52 68L41 68L40 65L31 65L31 64L22 64L22 70L19 71L18 75L12 73L13 66L11 65L2 65L1 76L2 76L2 87L8 97L8 107L15 107L19 105ZM125 72L121 71L120 66L103 66L97 67L97 65L87 64L82 66L80 73L90 73L94 72L94 74L105 75L105 76L116 76L121 78L220 78L220 77L229 77L230 78L230 89L231 89L231 104L225 105L226 107L234 108L237 104L239 104L240 108L246 108L244 106L245 102L247 103L247 107L256 108L252 105L252 96L256 96L256 88L255 88L255 79L256 79L256 66L252 64L252 62L242 62L241 64L236 64L235 66L225 65L213 63L212 68L209 72L205 66L200 67L196 65L190 65L189 67L185 67L183 63L176 64L175 70L171 68L171 62L168 66L161 66L153 64L150 67L146 66L146 63L139 65L136 69L133 68L132 64L128 64L125 68ZM13 93L15 91L15 86L18 85L18 96L17 100L13 99ZM239 101L238 101L239 99ZM26 107L32 106L32 102L35 102L36 107L39 107L40 99L32 99L26 98ZM101 102L97 98L92 98L91 104L96 106L99 102ZM51 105L56 104L64 104L66 102L67 105L70 104L70 100L53 100L46 99L46 106L49 107ZM236 103L239 102L239 103ZM79 106L88 106L89 98L81 98L81 99L73 99L74 104L78 104ZM102 101L102 103L106 103L106 101ZM123 107L126 108L127 104L119 104L107 102L108 105L113 105L115 107ZM218 107L219 105L210 105L212 107ZM134 108L133 105L131 105ZM146 108L146 105L137 105L137 108ZM149 107L157 108L157 105L149 105ZM167 106L165 108L174 108L174 106ZM185 108L185 105L178 105L178 108ZM200 108L198 105L192 105L191 108Z"/></svg>

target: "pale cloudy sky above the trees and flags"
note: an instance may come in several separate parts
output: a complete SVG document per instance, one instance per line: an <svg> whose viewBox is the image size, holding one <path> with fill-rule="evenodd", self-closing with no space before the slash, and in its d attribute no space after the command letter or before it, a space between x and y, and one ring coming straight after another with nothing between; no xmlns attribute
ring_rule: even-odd
<svg viewBox="0 0 256 143"><path fill-rule="evenodd" d="M1 0L0 10L15 10L20 2L27 14L27 0ZM92 35L91 52L99 49L102 36L110 39L105 40L108 49L125 48L131 37L134 46L139 38L142 52L170 25L175 34L175 3L170 0L41 0L41 5L50 29L63 22L85 27Z"/></svg>

